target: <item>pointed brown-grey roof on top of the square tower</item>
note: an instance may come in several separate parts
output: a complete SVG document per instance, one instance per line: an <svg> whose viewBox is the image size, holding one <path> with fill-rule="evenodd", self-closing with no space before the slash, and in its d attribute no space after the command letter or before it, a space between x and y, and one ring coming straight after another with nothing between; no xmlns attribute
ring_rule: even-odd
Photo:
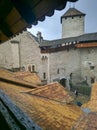
<svg viewBox="0 0 97 130"><path fill-rule="evenodd" d="M62 15L61 18L67 18L67 17L74 17L74 16L85 16L84 13L81 11L75 9L75 8L69 8L64 15Z"/></svg>

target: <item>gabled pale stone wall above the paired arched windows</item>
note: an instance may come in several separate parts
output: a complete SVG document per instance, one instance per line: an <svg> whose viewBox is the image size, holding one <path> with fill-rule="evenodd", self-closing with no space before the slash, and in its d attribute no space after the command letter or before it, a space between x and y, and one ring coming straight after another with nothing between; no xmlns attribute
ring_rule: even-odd
<svg viewBox="0 0 97 130"><path fill-rule="evenodd" d="M25 67L28 71L29 65L34 65L35 71L39 71L38 63L40 63L39 44L34 40L30 33L24 32L20 36L20 66ZM31 68L32 70L32 68Z"/></svg>

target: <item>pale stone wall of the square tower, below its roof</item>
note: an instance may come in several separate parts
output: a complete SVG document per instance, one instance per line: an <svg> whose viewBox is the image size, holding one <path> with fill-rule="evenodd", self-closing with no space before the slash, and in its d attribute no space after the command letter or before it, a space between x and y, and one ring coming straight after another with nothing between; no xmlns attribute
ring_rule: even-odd
<svg viewBox="0 0 97 130"><path fill-rule="evenodd" d="M84 34L84 16L62 18L62 38Z"/></svg>

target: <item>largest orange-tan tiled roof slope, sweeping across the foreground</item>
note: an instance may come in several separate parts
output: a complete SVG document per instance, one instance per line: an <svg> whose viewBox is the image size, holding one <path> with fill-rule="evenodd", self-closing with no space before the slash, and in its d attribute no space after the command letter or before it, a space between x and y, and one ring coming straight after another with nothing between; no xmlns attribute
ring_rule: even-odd
<svg viewBox="0 0 97 130"><path fill-rule="evenodd" d="M23 93L28 89L15 84L1 81L0 89L43 130L70 130L82 115L80 108L75 105Z"/></svg>

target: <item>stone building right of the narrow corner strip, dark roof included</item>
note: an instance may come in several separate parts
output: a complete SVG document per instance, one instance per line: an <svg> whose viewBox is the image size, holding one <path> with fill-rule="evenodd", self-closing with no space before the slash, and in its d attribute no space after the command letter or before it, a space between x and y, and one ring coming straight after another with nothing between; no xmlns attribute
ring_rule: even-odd
<svg viewBox="0 0 97 130"><path fill-rule="evenodd" d="M97 80L97 33L46 42L40 47L41 53L49 54L51 81L72 78L73 84L86 81L91 86Z"/></svg>

